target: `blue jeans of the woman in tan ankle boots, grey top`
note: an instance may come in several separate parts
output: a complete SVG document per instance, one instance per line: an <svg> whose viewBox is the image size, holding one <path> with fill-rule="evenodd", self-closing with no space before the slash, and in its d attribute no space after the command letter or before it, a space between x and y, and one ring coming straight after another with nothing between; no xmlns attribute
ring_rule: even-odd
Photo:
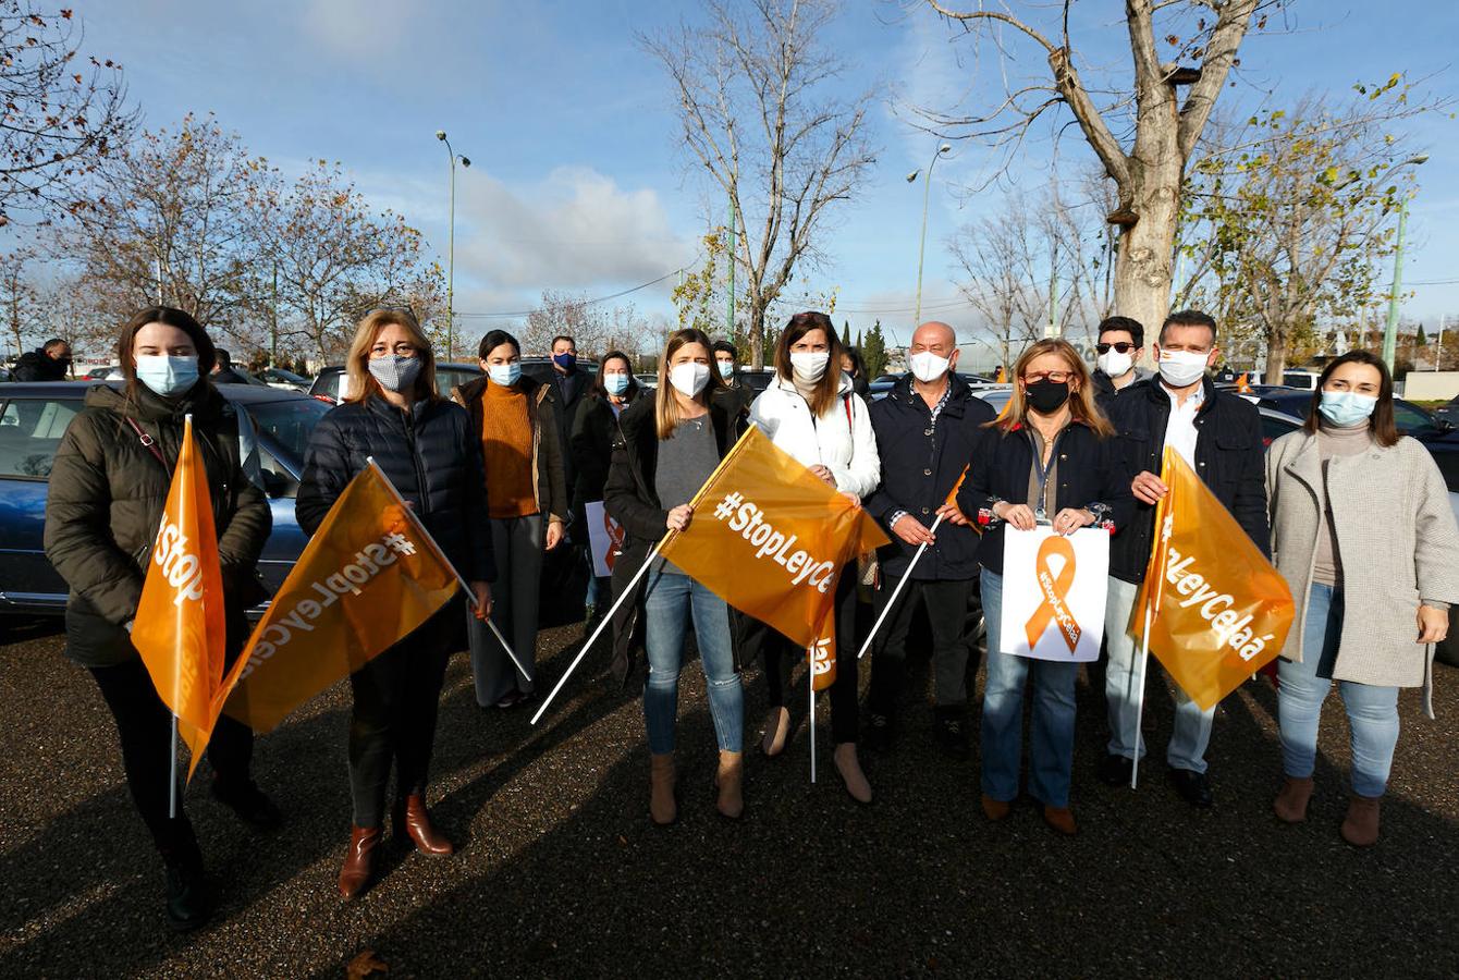
<svg viewBox="0 0 1459 980"><path fill-rule="evenodd" d="M643 723L648 748L655 755L674 751L678 718L678 671L684 665L684 629L694 617L699 662L709 687L709 715L715 720L719 751L738 752L744 741L744 688L734 669L730 643L730 608L724 599L687 575L648 573L643 599L648 685L643 688Z"/></svg>

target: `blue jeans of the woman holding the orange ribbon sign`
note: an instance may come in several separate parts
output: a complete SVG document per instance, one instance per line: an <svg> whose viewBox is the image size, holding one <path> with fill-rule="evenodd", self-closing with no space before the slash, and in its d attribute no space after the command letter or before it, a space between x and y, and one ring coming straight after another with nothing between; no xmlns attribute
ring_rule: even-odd
<svg viewBox="0 0 1459 980"><path fill-rule="evenodd" d="M998 652L1002 629L1002 576L983 569L988 624L988 684L983 687L983 792L1013 802L1023 760L1023 691L1033 674L1033 744L1029 793L1046 806L1069 805L1074 767L1074 681L1078 664L1056 664Z"/></svg>

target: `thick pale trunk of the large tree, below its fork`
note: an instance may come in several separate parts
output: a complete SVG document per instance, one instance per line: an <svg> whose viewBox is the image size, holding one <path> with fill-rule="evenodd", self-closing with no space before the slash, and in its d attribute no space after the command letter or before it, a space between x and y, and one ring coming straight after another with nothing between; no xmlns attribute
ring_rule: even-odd
<svg viewBox="0 0 1459 980"><path fill-rule="evenodd" d="M1170 257L1180 211L1180 165L1173 133L1167 155L1166 165L1132 175L1129 201L1139 220L1122 230L1115 258L1113 312L1139 321L1147 343L1158 338L1170 312Z"/></svg>

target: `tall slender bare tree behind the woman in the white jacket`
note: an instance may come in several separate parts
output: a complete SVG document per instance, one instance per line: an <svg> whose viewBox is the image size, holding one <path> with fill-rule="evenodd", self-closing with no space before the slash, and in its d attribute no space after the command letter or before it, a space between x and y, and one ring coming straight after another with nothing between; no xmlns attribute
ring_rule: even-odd
<svg viewBox="0 0 1459 980"><path fill-rule="evenodd" d="M845 98L846 64L823 32L832 0L709 0L708 26L641 36L674 82L684 143L743 223L731 261L747 300L751 366L766 309L801 262L816 262L833 201L874 163L864 127L870 92Z"/></svg>

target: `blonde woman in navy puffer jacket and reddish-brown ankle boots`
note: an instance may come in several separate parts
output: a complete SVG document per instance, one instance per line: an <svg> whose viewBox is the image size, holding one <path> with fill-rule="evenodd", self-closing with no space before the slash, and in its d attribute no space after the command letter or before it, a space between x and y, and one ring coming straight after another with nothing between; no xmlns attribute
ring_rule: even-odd
<svg viewBox="0 0 1459 980"><path fill-rule="evenodd" d="M330 508L374 462L395 486L445 557L470 583L473 612L492 612L492 528L481 429L436 389L436 360L416 318L376 309L360 321L346 356L349 391L314 427L295 499L299 526L318 531ZM353 827L340 868L340 897L369 888L379 863L385 790L395 770L391 828L422 855L454 853L426 809L436 709L446 661L464 646L464 596L350 674L349 769Z"/></svg>

